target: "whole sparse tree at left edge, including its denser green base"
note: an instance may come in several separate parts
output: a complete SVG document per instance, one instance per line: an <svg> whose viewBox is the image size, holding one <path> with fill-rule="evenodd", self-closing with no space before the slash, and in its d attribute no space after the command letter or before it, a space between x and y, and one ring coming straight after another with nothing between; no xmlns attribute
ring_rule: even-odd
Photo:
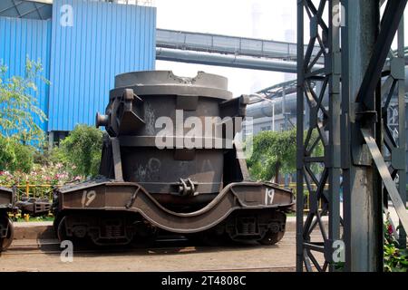
<svg viewBox="0 0 408 290"><path fill-rule="evenodd" d="M35 149L30 144L44 140L44 132L34 118L45 121L38 107L35 83L41 76L40 62L26 59L24 76L7 78L7 67L0 65L0 170L29 172L34 165Z"/></svg>

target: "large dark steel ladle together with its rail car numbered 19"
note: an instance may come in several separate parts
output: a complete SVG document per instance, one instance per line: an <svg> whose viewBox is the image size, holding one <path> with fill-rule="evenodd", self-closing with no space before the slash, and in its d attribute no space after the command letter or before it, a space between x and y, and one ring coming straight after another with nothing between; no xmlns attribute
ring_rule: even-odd
<svg viewBox="0 0 408 290"><path fill-rule="evenodd" d="M275 244L293 195L249 180L236 138L247 103L214 74L116 76L105 114L96 116L106 130L101 176L55 189L60 240L118 245L165 231Z"/></svg>

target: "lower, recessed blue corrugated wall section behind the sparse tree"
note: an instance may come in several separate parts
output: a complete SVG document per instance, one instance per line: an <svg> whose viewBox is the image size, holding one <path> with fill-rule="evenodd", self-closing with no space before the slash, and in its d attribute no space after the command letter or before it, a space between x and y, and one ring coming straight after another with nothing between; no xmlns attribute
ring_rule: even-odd
<svg viewBox="0 0 408 290"><path fill-rule="evenodd" d="M43 65L41 73L49 79L50 46L51 46L51 21L18 19L0 17L0 63L8 68L6 78L14 75L24 76L26 57L32 61L39 61ZM34 96L38 106L48 114L49 86L40 78L36 80L37 92ZM47 122L34 118L44 131Z"/></svg>

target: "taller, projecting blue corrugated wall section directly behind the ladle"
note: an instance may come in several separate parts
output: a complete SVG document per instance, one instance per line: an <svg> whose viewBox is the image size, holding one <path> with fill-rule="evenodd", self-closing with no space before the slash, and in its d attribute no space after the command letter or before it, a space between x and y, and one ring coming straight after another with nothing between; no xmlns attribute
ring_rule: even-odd
<svg viewBox="0 0 408 290"><path fill-rule="evenodd" d="M60 24L62 5L73 6L72 27ZM154 7L53 1L48 131L94 124L116 74L153 70L155 30Z"/></svg>

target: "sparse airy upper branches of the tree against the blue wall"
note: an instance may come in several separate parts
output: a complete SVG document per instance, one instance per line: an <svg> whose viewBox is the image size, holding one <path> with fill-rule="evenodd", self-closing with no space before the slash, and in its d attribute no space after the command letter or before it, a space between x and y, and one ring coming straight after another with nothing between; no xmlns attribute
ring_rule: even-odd
<svg viewBox="0 0 408 290"><path fill-rule="evenodd" d="M24 143L44 140L44 132L34 122L45 121L44 111L35 97L36 82L49 83L42 75L43 66L26 58L24 76L6 77L7 67L0 66L0 131L6 138L13 137Z"/></svg>

